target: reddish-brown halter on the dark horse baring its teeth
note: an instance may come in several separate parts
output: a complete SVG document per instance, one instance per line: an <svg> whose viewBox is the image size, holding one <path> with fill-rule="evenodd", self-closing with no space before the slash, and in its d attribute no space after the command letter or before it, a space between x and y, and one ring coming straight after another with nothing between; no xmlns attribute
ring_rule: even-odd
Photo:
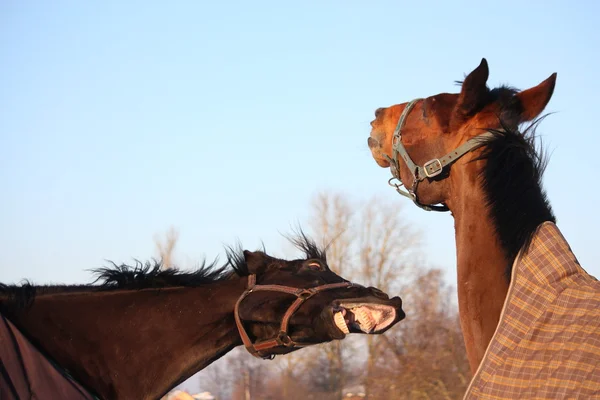
<svg viewBox="0 0 600 400"><path fill-rule="evenodd" d="M292 340L290 335L288 334L288 324L290 319L294 315L294 313L300 308L302 303L306 300L310 299L317 293L321 293L326 290L331 289L340 289L340 288L349 288L349 287L359 287L360 285L354 284L352 282L340 282L340 283L330 283L321 286L315 286L308 289L295 288L291 286L282 286L282 285L257 285L256 284L256 275L252 274L248 276L248 287L242 293L238 301L235 303L235 308L233 309L233 315L235 317L235 324L237 325L238 332L240 333L240 337L242 338L242 342L246 347L246 350L250 352L255 357L263 358L267 360L272 360L275 358L275 354L264 354L263 352L267 350L271 350L275 347L305 347L310 346L316 343L298 343ZM292 305L285 312L283 319L281 320L281 326L279 328L279 333L273 339L262 340L260 342L252 343L246 329L244 329L244 325L242 324L242 320L240 318L240 303L242 300L246 298L252 292L281 292L287 293L293 296L296 296L297 299L292 303Z"/></svg>

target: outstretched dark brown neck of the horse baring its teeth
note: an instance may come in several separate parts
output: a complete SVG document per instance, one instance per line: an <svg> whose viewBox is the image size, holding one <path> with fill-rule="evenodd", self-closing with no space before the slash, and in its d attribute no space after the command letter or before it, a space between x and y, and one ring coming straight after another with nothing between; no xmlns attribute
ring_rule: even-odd
<svg viewBox="0 0 600 400"><path fill-rule="evenodd" d="M11 320L102 398L159 398L241 344L245 278L196 288L42 295Z"/></svg>

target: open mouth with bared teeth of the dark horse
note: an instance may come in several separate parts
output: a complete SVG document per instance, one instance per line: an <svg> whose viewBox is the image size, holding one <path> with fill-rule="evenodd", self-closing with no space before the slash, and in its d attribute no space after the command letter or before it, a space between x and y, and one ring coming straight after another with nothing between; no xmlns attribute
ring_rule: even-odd
<svg viewBox="0 0 600 400"><path fill-rule="evenodd" d="M351 332L375 334L404 318L404 313L400 313L399 316L395 307L384 304L341 303L333 312L333 322L346 335Z"/></svg>

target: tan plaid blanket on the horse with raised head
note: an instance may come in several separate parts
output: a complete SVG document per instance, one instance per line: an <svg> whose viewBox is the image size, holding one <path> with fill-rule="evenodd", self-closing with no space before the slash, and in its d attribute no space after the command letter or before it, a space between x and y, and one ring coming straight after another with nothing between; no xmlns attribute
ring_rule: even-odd
<svg viewBox="0 0 600 400"><path fill-rule="evenodd" d="M600 282L555 224L515 259L500 322L464 399L600 398Z"/></svg>

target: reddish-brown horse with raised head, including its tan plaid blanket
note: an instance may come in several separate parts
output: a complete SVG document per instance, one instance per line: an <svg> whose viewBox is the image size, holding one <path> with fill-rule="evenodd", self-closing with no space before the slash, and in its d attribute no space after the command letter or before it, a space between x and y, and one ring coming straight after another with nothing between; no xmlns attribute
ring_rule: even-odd
<svg viewBox="0 0 600 400"><path fill-rule="evenodd" d="M454 217L469 364L478 383L496 379L486 396L566 395L552 385L599 394L600 285L555 225L541 184L546 157L535 141L557 74L523 91L490 89L488 75L484 58L459 82L460 93L377 109L368 147L390 167L398 193ZM470 395L485 398L477 390Z"/></svg>

